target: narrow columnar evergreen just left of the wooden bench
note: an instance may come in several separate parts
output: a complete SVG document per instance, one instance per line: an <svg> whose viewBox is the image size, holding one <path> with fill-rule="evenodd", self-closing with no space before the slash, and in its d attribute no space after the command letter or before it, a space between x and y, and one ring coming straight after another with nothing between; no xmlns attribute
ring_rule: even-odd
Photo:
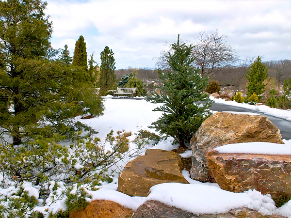
<svg viewBox="0 0 291 218"><path fill-rule="evenodd" d="M116 75L114 74L115 62L113 54L114 52L112 49L109 49L108 46L106 46L100 54L101 66L98 84L102 95L113 87L116 80Z"/></svg>

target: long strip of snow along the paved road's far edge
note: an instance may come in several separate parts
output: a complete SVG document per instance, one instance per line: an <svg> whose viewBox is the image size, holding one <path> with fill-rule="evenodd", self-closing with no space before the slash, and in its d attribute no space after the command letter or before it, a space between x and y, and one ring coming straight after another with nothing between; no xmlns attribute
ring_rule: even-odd
<svg viewBox="0 0 291 218"><path fill-rule="evenodd" d="M291 110L269 108L266 105L248 105L245 103L237 103L235 101L226 101L225 99L221 99L221 98L214 98L213 96L210 96L210 99L218 104L225 104L225 105L231 105L231 106L245 108L245 109L251 109L251 110L259 111L259 112L262 112L274 117L291 121Z"/></svg>

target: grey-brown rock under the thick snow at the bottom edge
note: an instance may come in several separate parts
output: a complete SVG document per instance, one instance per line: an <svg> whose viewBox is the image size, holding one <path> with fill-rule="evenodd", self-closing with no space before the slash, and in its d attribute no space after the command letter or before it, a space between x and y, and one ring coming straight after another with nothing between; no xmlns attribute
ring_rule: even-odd
<svg viewBox="0 0 291 218"><path fill-rule="evenodd" d="M193 214L158 201L140 205L131 218L285 218L279 215L262 215L248 208L237 208L225 214Z"/></svg>

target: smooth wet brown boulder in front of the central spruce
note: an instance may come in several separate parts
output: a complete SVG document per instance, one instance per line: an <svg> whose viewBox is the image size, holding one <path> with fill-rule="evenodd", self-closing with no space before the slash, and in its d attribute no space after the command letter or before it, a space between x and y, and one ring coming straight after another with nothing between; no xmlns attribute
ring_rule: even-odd
<svg viewBox="0 0 291 218"><path fill-rule="evenodd" d="M117 191L130 196L148 195L152 186L161 183L186 183L181 174L181 156L175 152L148 149L124 167L118 177Z"/></svg>

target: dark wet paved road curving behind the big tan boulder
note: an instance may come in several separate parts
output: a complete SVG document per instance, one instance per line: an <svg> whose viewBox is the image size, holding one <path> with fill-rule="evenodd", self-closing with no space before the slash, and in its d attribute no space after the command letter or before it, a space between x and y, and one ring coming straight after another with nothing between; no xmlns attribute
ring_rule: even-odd
<svg viewBox="0 0 291 218"><path fill-rule="evenodd" d="M224 104L216 104L214 102L212 103L212 107L210 107L210 109L216 110L216 111L251 112L251 113L257 113L262 116L268 117L271 120L271 122L280 129L282 139L291 140L291 121L277 118L271 115L267 115L255 110L239 108L239 107L224 105Z"/></svg>

